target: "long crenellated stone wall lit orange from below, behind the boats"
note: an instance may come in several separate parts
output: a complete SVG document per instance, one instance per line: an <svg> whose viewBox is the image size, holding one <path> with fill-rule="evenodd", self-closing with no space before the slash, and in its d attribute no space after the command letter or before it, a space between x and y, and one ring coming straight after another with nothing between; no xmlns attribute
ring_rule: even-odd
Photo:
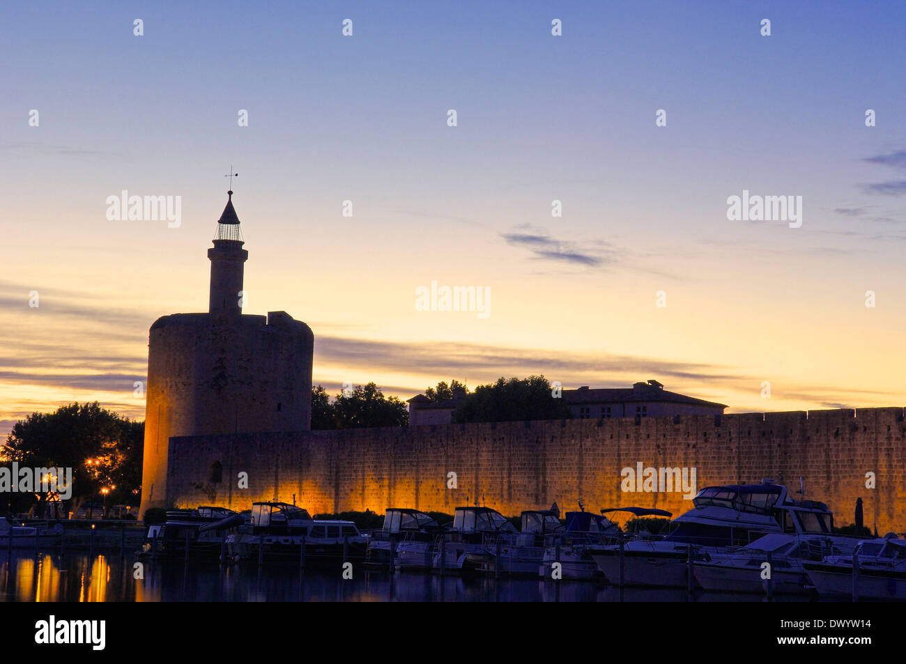
<svg viewBox="0 0 906 664"><path fill-rule="evenodd" d="M906 530L904 437L901 408L195 436L169 439L167 493L170 505L236 510L295 499L313 514L390 506L452 514L476 498L505 515L554 501L674 515L692 507L677 492L623 492L622 468L641 462L695 467L699 488L771 477L795 496L802 476L805 497L827 503L837 524L853 523L861 497L864 523L883 534Z"/></svg>

